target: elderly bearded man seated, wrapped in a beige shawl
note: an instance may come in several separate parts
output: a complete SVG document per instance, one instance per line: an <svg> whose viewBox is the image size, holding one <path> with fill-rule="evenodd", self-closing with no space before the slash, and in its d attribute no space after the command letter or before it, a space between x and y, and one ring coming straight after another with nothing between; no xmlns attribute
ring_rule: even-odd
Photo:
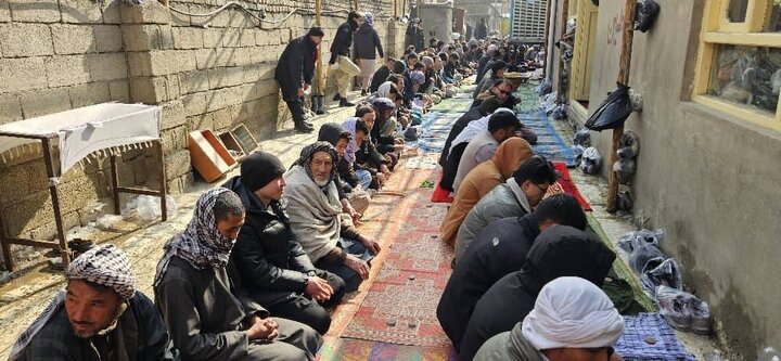
<svg viewBox="0 0 781 361"><path fill-rule="evenodd" d="M369 276L369 262L380 245L361 235L349 215L342 212L334 183L337 160L331 143L304 147L284 175L284 199L293 234L315 267L335 273L353 292Z"/></svg>

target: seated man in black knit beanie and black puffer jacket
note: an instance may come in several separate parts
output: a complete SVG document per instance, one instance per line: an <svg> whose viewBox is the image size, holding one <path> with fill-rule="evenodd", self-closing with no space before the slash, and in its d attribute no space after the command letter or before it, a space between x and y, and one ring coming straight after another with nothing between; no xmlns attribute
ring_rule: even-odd
<svg viewBox="0 0 781 361"><path fill-rule="evenodd" d="M337 275L318 270L293 236L280 199L285 168L277 156L256 152L244 158L241 176L223 186L235 192L246 209L228 274L236 289L271 314L298 321L325 334L335 306L345 294ZM322 305L322 306L321 306Z"/></svg>

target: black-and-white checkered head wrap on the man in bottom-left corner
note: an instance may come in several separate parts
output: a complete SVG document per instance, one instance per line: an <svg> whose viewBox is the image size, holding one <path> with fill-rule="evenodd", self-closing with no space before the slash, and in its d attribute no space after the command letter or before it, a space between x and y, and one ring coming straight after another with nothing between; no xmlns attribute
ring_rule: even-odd
<svg viewBox="0 0 781 361"><path fill-rule="evenodd" d="M136 276L127 255L114 245L98 246L85 252L68 265L68 280L84 280L111 287L124 299L136 293Z"/></svg>

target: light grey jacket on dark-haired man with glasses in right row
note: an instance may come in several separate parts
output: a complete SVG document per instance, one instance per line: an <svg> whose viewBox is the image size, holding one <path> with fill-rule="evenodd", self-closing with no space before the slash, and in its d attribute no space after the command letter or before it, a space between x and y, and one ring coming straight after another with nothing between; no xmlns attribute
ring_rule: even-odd
<svg viewBox="0 0 781 361"><path fill-rule="evenodd" d="M456 256L461 258L466 248L489 223L507 217L522 217L532 212L532 206L515 179L510 178L486 194L470 210L456 236Z"/></svg>

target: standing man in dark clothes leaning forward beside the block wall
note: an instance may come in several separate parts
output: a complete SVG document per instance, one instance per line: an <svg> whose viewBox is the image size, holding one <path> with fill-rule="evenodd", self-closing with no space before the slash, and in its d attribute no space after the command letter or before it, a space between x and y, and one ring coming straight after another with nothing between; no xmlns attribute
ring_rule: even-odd
<svg viewBox="0 0 781 361"><path fill-rule="evenodd" d="M318 46L322 41L323 31L319 27L312 27L307 35L294 39L285 47L274 79L282 90L282 99L287 103L295 130L299 133L310 133L315 130L304 116L304 92L311 85L315 76L315 62L318 57Z"/></svg>

